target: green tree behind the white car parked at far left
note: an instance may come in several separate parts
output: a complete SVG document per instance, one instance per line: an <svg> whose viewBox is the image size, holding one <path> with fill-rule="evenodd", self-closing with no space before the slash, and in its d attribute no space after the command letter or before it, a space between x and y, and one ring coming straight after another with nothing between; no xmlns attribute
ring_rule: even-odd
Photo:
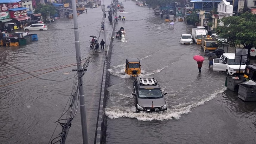
<svg viewBox="0 0 256 144"><path fill-rule="evenodd" d="M43 21L46 21L46 17L49 15L49 12L51 15L54 15L56 13L56 7L51 5L43 5L43 4L37 4L37 7L35 8L35 13L41 13L43 17Z"/></svg>

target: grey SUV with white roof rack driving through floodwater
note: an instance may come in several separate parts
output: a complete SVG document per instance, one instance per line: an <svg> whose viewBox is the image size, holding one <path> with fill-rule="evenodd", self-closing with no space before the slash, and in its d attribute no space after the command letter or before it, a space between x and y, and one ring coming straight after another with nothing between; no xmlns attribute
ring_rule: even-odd
<svg viewBox="0 0 256 144"><path fill-rule="evenodd" d="M133 96L136 112L167 111L167 105L160 86L153 77L137 77L133 82Z"/></svg>

